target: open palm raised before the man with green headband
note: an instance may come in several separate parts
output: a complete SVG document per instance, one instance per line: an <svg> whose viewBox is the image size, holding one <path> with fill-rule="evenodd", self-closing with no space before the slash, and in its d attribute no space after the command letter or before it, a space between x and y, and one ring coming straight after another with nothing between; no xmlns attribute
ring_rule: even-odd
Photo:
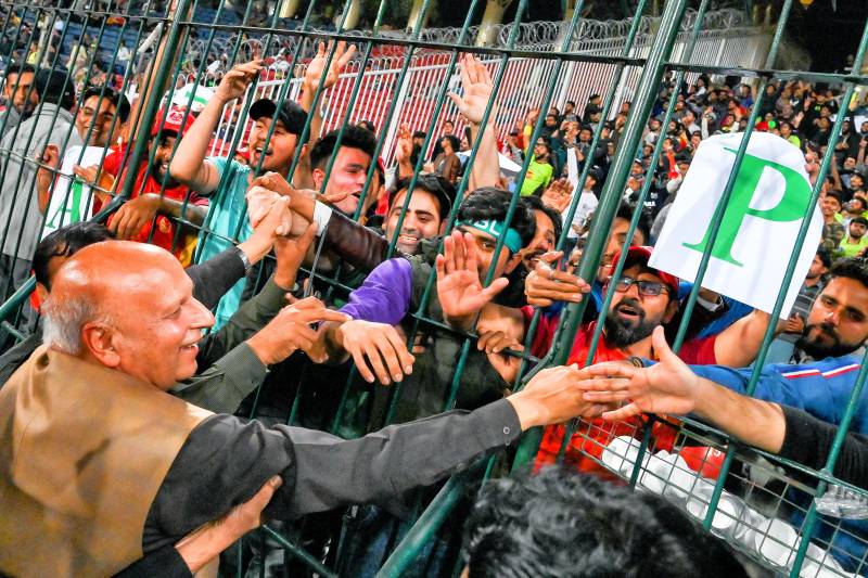
<svg viewBox="0 0 868 578"><path fill-rule="evenodd" d="M487 287L480 282L476 243L472 234L452 231L443 241L443 255L434 264L437 271L437 297L446 322L470 329L473 317L508 284L503 278Z"/></svg>

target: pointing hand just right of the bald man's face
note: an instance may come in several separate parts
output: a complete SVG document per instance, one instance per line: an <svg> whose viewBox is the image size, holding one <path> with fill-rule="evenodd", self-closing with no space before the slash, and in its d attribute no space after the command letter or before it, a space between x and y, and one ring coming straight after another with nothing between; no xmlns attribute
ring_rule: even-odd
<svg viewBox="0 0 868 578"><path fill-rule="evenodd" d="M324 351L316 347L319 336L310 324L346 320L346 314L327 309L316 297L307 297L281 309L275 319L247 339L247 345L266 365L281 362L298 349L319 363L324 361Z"/></svg>

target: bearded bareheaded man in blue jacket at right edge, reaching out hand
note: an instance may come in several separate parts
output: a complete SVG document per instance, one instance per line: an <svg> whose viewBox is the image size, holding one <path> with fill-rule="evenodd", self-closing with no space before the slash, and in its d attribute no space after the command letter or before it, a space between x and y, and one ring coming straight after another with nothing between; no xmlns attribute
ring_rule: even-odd
<svg viewBox="0 0 868 578"><path fill-rule="evenodd" d="M661 336L658 336L660 339ZM839 425L850 403L853 388L856 386L859 368L861 367L861 355L859 349L868 338L868 260L851 258L839 260L831 271L831 279L824 287L817 299L814 301L810 312L807 316L802 337L796 347L801 349L805 357L799 364L769 364L765 365L756 382L753 397L789 406L797 410L803 410L810 416L832 425ZM658 342L660 345L662 343ZM660 349L660 348L656 348ZM661 351L660 363L640 359L644 356L634 358L637 365L649 367L648 370L640 370L640 380L634 380L634 373L628 370L613 371L616 365L605 364L599 369L589 368L589 373L593 376L601 376L604 372L615 380L621 380L622 387L613 387L613 384L598 382L598 386L586 387L587 389L612 390L626 389L628 396L623 396L621 400L629 397L637 404L628 404L622 410L614 412L610 418L620 419L628 416L637 407L644 411L666 411L673 409L664 404L653 408L646 404L653 400L653 396L646 397L647 391L638 387L639 381L648 383L653 389L660 389L661 381L667 382L666 388L685 390L693 386L699 386L703 391L715 390L714 384L723 386L736 394L746 394L751 380L752 369L732 369L722 365L690 365L685 368L676 363L674 359ZM682 360L684 357L679 354ZM620 368L620 365L617 365ZM626 377L626 380L624 380ZM697 382L701 383L697 383ZM712 382L712 383L709 383ZM712 394L715 399L722 399L719 390ZM586 394L588 400L602 402L605 396L595 396ZM728 397L729 404L737 402L737 398ZM857 409L854 414L851 427L859 434L868 433L868 397L863 391L856 401ZM743 406L743 404L742 404ZM769 411L769 408L765 408ZM690 412L689 406L681 407L674 413ZM771 408L770 411L781 411ZM787 412L790 413L789 411ZM743 419L750 421L752 413L745 412ZM804 416L802 416L804 418ZM795 423L801 427L804 422L799 414L788 415L789 426ZM746 425L746 424L745 424ZM815 424L816 425L816 424ZM731 420L727 424L727 429L731 426ZM758 424L754 424L758 427ZM808 425L808 427L810 427ZM745 437L743 429L738 432L739 437ZM769 432L770 434L770 432ZM828 438L828 428L824 437ZM753 437L748 438L753 441ZM821 439L817 439L821 441ZM780 442L780 440L779 440ZM816 446L814 446L816 448ZM769 449L777 450L774 445ZM797 455L804 455L804 451ZM813 458L816 459L816 458ZM825 464L825 461L821 462ZM800 498L803 498L802 493ZM792 497L790 498L792 499ZM805 501L796 499L797 503ZM797 515L797 513L796 513ZM797 526L801 519L797 519ZM868 526L864 521L845 521L842 527L838 523L832 525L822 523L817 529L815 538L824 541L834 540L834 547L830 552L835 556L847 571L855 570L858 561L866 555L866 538Z"/></svg>

